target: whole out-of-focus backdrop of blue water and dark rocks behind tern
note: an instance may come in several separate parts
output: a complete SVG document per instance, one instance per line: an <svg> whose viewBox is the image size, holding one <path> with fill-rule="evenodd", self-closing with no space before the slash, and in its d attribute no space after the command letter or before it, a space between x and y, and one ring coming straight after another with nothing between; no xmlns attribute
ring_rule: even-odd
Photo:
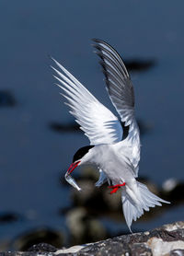
<svg viewBox="0 0 184 256"><path fill-rule="evenodd" d="M140 124L140 178L172 202L132 224L143 231L183 220L184 2L0 1L0 250L55 247L128 233L120 194L94 188L95 169L76 169L88 145L55 87L52 55L114 111L91 39L108 41L132 76ZM116 113L116 111L114 111Z"/></svg>

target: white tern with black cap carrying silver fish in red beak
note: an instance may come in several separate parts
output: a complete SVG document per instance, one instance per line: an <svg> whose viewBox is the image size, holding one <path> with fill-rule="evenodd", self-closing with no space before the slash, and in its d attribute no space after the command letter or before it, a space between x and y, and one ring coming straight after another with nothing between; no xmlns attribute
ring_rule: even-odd
<svg viewBox="0 0 184 256"><path fill-rule="evenodd" d="M105 76L109 99L119 114L117 117L98 101L62 64L52 58L57 68L55 83L63 92L64 102L89 139L90 145L78 149L73 162L67 169L65 180L81 191L72 178L76 167L91 164L99 171L96 186L109 183L111 194L121 190L122 211L129 230L132 220L136 221L144 211L161 203L170 204L150 192L146 185L136 180L140 161L140 132L134 113L134 92L131 77L123 64L120 54L106 41L93 39L95 52ZM128 135L123 138L123 128Z"/></svg>

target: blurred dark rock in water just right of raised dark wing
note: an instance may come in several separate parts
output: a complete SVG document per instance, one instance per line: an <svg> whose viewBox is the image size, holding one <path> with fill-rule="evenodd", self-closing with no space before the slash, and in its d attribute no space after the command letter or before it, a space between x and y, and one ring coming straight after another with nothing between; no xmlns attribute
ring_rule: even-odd
<svg viewBox="0 0 184 256"><path fill-rule="evenodd" d="M128 71L145 71L150 69L151 67L155 66L155 60L148 59L148 60L141 60L141 59L132 59L132 60L125 60L124 64Z"/></svg>

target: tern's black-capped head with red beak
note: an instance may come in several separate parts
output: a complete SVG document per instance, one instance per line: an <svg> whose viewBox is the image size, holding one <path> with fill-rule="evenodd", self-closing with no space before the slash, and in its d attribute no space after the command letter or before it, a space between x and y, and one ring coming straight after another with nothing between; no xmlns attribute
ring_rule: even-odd
<svg viewBox="0 0 184 256"><path fill-rule="evenodd" d="M94 145L86 145L81 148L79 148L74 157L73 157L73 163L70 165L69 169L67 169L67 173L70 174L73 172L73 170L77 167L85 163L84 157L86 157L86 154L88 153L89 149L94 147Z"/></svg>

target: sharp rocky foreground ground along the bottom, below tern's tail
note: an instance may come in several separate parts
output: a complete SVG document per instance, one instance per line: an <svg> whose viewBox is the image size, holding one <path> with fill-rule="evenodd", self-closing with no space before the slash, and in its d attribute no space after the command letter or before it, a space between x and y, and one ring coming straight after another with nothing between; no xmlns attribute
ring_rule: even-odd
<svg viewBox="0 0 184 256"><path fill-rule="evenodd" d="M73 246L68 249L56 249L52 245L40 243L28 251L0 252L0 256L92 256L92 255L184 255L184 222L176 222L158 227L144 233L123 235L96 243Z"/></svg>

